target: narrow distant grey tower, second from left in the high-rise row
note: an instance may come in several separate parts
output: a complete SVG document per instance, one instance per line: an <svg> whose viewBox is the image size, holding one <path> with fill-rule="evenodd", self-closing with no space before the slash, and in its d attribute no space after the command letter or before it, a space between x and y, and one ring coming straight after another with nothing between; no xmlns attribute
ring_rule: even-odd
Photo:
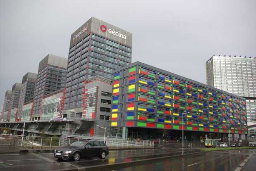
<svg viewBox="0 0 256 171"><path fill-rule="evenodd" d="M14 108L18 107L19 95L20 95L21 89L22 89L21 83L15 83L12 86L12 95L11 95L10 106L9 106L9 110L8 110L8 114L7 114L7 121L10 121L11 113L12 113L12 115L16 115L16 113L17 113L17 109L14 109ZM14 110L12 110L12 109L14 109ZM14 114L14 111L16 112L15 114Z"/></svg>

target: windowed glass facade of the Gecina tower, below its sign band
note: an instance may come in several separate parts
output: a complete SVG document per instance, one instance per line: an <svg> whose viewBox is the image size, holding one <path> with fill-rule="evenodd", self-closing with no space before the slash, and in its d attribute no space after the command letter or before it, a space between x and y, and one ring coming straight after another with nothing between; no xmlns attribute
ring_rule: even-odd
<svg viewBox="0 0 256 171"><path fill-rule="evenodd" d="M92 20L100 21L94 18ZM91 31L85 31L83 37L80 35L79 40L76 39L76 43L73 38L71 39L64 91L64 109L84 107L81 98L84 99L82 96L86 80L93 76L112 79L115 69L132 62L131 46L114 40L112 36L111 38L102 36L98 32L94 32L93 28L91 29Z"/></svg>

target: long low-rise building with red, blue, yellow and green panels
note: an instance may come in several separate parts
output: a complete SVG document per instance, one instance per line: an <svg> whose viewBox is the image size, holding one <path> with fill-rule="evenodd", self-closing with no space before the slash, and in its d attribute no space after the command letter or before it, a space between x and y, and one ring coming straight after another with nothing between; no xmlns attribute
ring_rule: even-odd
<svg viewBox="0 0 256 171"><path fill-rule="evenodd" d="M110 126L144 140L179 141L182 130L186 141L248 134L243 97L141 62L113 73Z"/></svg>

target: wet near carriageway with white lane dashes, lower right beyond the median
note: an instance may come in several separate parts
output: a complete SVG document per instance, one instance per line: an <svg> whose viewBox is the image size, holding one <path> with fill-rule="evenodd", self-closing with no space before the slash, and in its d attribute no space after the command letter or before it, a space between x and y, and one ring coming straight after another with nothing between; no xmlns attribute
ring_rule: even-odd
<svg viewBox="0 0 256 171"><path fill-rule="evenodd" d="M255 149L208 152L112 171L234 171L248 156L255 155L255 152Z"/></svg>

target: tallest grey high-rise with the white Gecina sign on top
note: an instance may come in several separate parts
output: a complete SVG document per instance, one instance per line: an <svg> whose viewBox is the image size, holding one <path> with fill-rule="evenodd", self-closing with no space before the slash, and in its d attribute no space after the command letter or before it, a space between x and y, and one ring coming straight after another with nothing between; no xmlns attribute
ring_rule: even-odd
<svg viewBox="0 0 256 171"><path fill-rule="evenodd" d="M132 33L92 17L71 35L63 114L86 113L81 101L86 81L94 76L112 79L115 69L132 61ZM88 110L87 110L88 112Z"/></svg>

